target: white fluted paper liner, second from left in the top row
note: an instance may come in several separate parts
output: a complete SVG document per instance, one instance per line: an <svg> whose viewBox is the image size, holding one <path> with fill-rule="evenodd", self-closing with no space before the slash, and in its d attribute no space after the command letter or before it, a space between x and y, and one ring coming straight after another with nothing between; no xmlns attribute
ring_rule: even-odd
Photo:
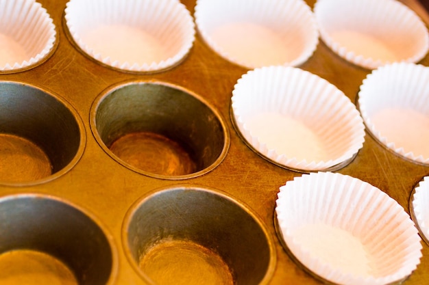
<svg viewBox="0 0 429 285"><path fill-rule="evenodd" d="M120 70L171 68L195 40L193 18L178 0L71 0L65 19L84 53Z"/></svg>

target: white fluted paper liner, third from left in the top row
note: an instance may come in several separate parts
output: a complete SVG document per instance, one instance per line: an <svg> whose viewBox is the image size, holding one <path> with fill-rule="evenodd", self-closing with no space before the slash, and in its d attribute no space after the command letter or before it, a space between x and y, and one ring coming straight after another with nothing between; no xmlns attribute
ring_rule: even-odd
<svg viewBox="0 0 429 285"><path fill-rule="evenodd" d="M298 66L319 42L317 23L303 0L198 0L194 16L212 50L249 69Z"/></svg>

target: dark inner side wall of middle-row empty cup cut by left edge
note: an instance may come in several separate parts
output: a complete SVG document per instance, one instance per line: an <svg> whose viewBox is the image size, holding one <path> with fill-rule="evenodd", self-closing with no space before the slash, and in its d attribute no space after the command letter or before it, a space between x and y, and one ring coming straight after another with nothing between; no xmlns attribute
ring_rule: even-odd
<svg viewBox="0 0 429 285"><path fill-rule="evenodd" d="M51 174L69 167L84 147L78 120L64 101L38 87L0 83L0 133L36 144L47 155Z"/></svg>

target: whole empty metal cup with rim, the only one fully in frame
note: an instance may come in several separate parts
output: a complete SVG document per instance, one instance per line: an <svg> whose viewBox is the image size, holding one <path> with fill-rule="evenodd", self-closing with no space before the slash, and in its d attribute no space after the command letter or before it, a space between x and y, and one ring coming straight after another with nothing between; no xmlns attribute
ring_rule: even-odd
<svg viewBox="0 0 429 285"><path fill-rule="evenodd" d="M213 107L167 83L109 87L93 103L90 124L112 158L157 178L205 174L221 163L230 144L225 122Z"/></svg>

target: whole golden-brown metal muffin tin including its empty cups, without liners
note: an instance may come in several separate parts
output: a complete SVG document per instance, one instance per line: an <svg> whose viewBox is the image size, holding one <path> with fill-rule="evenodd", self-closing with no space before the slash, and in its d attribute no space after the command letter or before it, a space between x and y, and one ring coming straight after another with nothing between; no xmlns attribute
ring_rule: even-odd
<svg viewBox="0 0 429 285"><path fill-rule="evenodd" d="M279 188L302 174L263 159L234 130L232 91L249 70L215 53L197 33L177 66L151 74L121 71L75 44L65 0L40 3L56 25L55 52L38 66L0 73L0 116L2 133L44 150L49 162L42 165L51 174L0 181L0 222L8 229L0 236L1 251L49 254L73 271L78 284L155 284L138 266L140 254L186 241L221 257L236 284L321 284L286 253L275 230ZM194 13L196 1L182 3ZM307 3L313 8L315 1ZM429 57L419 63L428 65ZM326 79L353 103L371 72L322 41L299 68ZM147 90L158 98L141 98ZM150 103L153 116L133 111L136 98ZM181 144L195 168L177 175L127 161L112 144L130 133L172 139L170 146ZM23 144L26 150L29 144ZM8 163L5 173L22 178L28 164ZM336 172L368 182L410 213L410 195L429 168L366 133L363 148ZM421 254L403 284L429 280L423 242Z"/></svg>

